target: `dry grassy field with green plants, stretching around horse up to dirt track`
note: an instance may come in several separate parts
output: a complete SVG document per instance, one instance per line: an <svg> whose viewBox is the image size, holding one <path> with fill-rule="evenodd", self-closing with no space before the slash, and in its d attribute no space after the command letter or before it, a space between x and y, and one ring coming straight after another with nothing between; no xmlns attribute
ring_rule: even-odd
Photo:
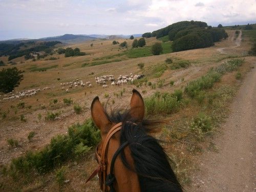
<svg viewBox="0 0 256 192"><path fill-rule="evenodd" d="M59 59L14 59L15 67L25 70L24 80L14 93L32 88L41 92L11 101L3 100L10 94L0 94L0 189L98 191L96 178L84 183L97 166L93 157L99 141L90 120L90 105L98 95L111 108L126 108L132 89L142 94L147 118L169 122L154 136L165 141L161 144L172 159L176 175L183 186L189 186L189 173L197 168L195 157L215 149L211 137L255 61L242 55L249 50L253 35L246 33L243 44L235 48L231 37L212 48L174 53L170 42L162 42L164 54L154 56L151 46L159 39L152 37L146 39L146 47L137 49L132 49L130 39L126 40L127 49L112 45L113 40L95 40L72 46L86 52L84 56L54 54L52 57ZM226 48L226 54L218 51L222 48ZM166 63L166 58L173 62ZM6 57L1 60L6 62ZM109 88L105 89L95 82L95 77L117 78L130 73L145 77L116 87L107 81ZM76 79L90 81L92 87L79 86L66 92L68 86L60 85ZM43 90L45 87L50 89Z"/></svg>

